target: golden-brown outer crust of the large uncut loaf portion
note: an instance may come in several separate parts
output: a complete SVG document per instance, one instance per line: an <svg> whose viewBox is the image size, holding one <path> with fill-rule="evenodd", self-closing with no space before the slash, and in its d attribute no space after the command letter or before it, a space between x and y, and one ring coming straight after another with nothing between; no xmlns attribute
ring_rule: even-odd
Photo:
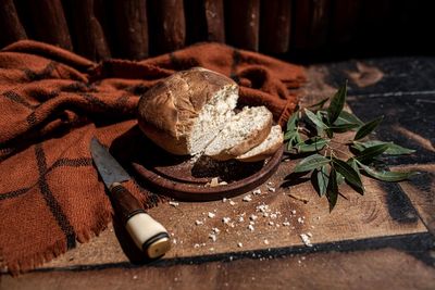
<svg viewBox="0 0 435 290"><path fill-rule="evenodd" d="M140 97L139 127L164 150L189 154L188 136L196 117L213 96L227 86L238 89L233 79L202 67L177 72Z"/></svg>

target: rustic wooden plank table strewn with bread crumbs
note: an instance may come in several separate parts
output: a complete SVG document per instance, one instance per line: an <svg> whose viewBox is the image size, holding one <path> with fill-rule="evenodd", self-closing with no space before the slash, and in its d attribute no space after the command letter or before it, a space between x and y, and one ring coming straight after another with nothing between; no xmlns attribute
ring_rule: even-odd
<svg viewBox="0 0 435 290"><path fill-rule="evenodd" d="M350 110L363 121L385 115L377 138L418 150L391 159L391 169L422 174L400 184L364 178L366 194L345 189L348 199L330 213L309 181L283 186L296 164L283 162L259 187L261 194L247 192L249 202L244 194L233 202L152 209L173 236L173 249L160 261L141 262L111 225L32 273L1 276L1 288L435 289L435 59L360 60L308 71L304 104L331 96L348 78Z"/></svg>

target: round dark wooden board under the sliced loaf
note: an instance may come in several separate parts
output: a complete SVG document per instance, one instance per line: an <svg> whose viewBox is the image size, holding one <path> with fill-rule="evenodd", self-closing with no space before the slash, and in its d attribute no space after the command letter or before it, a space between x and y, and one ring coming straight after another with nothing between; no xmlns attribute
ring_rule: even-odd
<svg viewBox="0 0 435 290"><path fill-rule="evenodd" d="M112 144L111 151L127 163L139 184L156 193L186 201L210 201L248 192L275 173L284 149L261 162L215 162L207 157L194 161L191 156L167 153L133 128ZM121 146L122 144L122 146ZM209 187L212 178L227 185Z"/></svg>

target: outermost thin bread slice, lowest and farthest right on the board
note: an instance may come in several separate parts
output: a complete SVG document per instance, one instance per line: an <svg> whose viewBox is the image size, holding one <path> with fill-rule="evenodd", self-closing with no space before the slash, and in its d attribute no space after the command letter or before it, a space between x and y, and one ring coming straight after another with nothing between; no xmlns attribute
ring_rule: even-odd
<svg viewBox="0 0 435 290"><path fill-rule="evenodd" d="M252 148L236 159L243 162L256 162L272 156L283 146L284 136L279 125L272 127L268 138L259 146Z"/></svg>

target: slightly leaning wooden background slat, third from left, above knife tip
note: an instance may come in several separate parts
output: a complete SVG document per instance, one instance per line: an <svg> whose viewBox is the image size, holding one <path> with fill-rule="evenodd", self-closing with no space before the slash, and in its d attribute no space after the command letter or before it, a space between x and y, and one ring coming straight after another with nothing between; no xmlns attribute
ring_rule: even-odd
<svg viewBox="0 0 435 290"><path fill-rule="evenodd" d="M108 41L99 18L98 10L103 5L95 0L65 0L65 9L71 13L70 26L74 34L75 51L94 61L111 56Z"/></svg>

